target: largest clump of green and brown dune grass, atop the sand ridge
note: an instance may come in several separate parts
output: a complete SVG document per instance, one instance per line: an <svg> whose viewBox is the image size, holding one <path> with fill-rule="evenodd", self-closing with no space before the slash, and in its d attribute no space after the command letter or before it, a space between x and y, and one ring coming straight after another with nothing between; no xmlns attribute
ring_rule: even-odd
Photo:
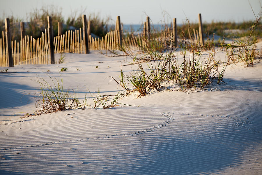
<svg viewBox="0 0 262 175"><path fill-rule="evenodd" d="M210 53L208 58L202 59L203 61L199 52L192 54L190 58L185 54L186 47L183 50L183 62L179 64L175 50L167 49L165 53L160 54L159 61L149 60L146 67L137 61L139 66L137 71L133 71L130 75L125 75L121 71L118 80L113 79L128 93L137 91L141 96L145 96L153 89L166 88L163 85L164 81L175 81L182 90L187 90L197 87L203 89L218 78L216 76L218 62L215 61L214 54ZM224 71L220 72L220 77L223 74Z"/></svg>

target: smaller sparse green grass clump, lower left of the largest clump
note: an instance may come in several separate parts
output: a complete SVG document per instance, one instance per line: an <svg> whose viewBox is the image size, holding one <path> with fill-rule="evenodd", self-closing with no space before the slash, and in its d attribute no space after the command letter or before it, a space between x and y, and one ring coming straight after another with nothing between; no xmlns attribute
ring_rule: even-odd
<svg viewBox="0 0 262 175"><path fill-rule="evenodd" d="M52 113L70 109L86 109L87 106L87 94L91 92L88 90L85 96L80 101L77 90L65 89L63 87L63 79L60 76L60 80L52 78L48 75L51 83L48 83L44 78L37 77L37 82L40 85L41 92L36 93L36 111L35 115L41 115L44 113ZM94 101L93 108L113 108L118 103L118 100L122 97L119 91L116 95L101 95L100 91L95 94L91 94ZM114 96L113 99L109 99L109 96ZM101 105L101 107L99 106Z"/></svg>

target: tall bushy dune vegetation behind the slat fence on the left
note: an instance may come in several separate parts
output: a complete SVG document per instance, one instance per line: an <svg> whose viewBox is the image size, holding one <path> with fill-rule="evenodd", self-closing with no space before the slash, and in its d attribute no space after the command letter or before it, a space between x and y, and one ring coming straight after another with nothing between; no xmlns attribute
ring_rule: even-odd
<svg viewBox="0 0 262 175"><path fill-rule="evenodd" d="M19 17L4 16L0 18L0 34L5 30L4 18L10 18L10 29L12 40L20 40L20 22L26 22L25 34L33 36L33 38L41 37L41 32L47 28L47 16L52 16L52 25L54 29L54 35L58 33L58 22L63 23L63 34L69 30L69 27L79 29L82 27L82 15L86 14L85 10L79 10L73 12L68 19L62 16L62 9L54 6L44 6L41 9L35 8L33 11L27 14L26 21L22 21ZM86 14L87 20L91 21L91 33L102 37L109 31L110 17L102 19L99 14L89 13ZM72 28L70 29L72 30Z"/></svg>

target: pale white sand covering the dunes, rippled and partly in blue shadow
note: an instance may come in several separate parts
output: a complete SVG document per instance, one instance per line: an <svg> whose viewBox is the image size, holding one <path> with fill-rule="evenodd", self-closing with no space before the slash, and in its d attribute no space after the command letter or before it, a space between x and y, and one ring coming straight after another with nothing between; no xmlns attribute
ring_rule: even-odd
<svg viewBox="0 0 262 175"><path fill-rule="evenodd" d="M200 92L176 85L120 101L135 106L13 115L33 113L33 94L25 94L39 92L37 75L50 82L47 69L59 78L58 70L68 68L63 84L78 86L80 97L85 85L109 95L119 87L108 77L117 78L121 64L131 61L95 52L65 58L63 64L20 65L8 68L17 73L0 74L0 174L262 174L260 60L253 67L230 64L227 84ZM217 51L216 59L225 61L225 52ZM137 65L122 66L124 74L132 69ZM88 103L92 107L92 99Z"/></svg>

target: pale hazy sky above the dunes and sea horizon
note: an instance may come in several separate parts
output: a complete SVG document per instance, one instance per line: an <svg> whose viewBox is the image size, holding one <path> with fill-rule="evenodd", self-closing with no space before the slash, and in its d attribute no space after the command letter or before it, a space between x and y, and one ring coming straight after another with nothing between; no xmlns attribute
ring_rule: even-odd
<svg viewBox="0 0 262 175"><path fill-rule="evenodd" d="M163 20L162 11L170 17L176 17L177 23L185 22L186 17L190 22L197 22L198 13L202 15L203 22L254 20L254 14L249 2L257 15L261 10L261 0L0 0L0 15L4 18L14 15L26 21L26 13L34 8L52 5L62 8L62 14L67 19L76 10L86 9L85 14L100 13L101 17L121 16L124 24L140 24L148 15L154 24ZM2 14L1 14L2 13ZM146 14L147 15L146 15ZM114 22L112 22L114 23Z"/></svg>

